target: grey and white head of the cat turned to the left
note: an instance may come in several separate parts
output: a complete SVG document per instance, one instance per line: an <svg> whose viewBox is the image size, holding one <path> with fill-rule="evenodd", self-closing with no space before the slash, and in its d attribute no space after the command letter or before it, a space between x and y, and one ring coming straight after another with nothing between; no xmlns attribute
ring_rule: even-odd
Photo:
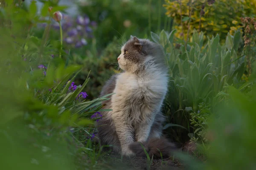
<svg viewBox="0 0 256 170"><path fill-rule="evenodd" d="M148 65L151 68L164 65L164 53L160 45L133 36L122 46L117 59L119 67L131 73L143 71Z"/></svg>

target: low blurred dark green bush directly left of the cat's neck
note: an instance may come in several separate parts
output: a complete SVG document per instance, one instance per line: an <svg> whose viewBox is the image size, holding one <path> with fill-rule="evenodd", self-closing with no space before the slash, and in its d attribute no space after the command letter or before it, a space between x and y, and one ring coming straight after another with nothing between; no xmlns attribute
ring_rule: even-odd
<svg viewBox="0 0 256 170"><path fill-rule="evenodd" d="M88 82L86 92L88 99L93 99L99 96L105 82L115 73L118 73L117 57L120 54L122 39L117 37L113 38L113 41L102 51L100 56L97 57L92 52L87 53L87 56L74 54L73 59L70 60L70 64L83 65L84 68L81 73L76 77L76 83L80 84L84 82L87 74L90 72L90 81Z"/></svg>

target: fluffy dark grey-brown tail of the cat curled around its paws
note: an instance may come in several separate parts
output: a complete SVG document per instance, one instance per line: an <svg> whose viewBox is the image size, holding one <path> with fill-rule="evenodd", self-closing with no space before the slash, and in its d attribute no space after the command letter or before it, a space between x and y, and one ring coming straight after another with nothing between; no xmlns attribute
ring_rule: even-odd
<svg viewBox="0 0 256 170"><path fill-rule="evenodd" d="M129 145L130 150L136 153L136 156L148 156L154 159L169 158L177 151L175 144L169 142L165 137L149 139L148 142L134 142ZM145 153L146 152L146 153Z"/></svg>

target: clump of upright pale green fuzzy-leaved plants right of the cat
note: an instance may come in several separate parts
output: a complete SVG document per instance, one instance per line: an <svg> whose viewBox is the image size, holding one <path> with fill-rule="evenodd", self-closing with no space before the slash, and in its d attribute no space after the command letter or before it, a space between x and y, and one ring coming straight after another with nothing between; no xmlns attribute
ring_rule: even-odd
<svg viewBox="0 0 256 170"><path fill-rule="evenodd" d="M152 39L165 49L169 65L170 85L164 113L172 126L185 127L169 128L168 133L179 142L190 138L197 141L200 137L199 141L205 142L201 133L207 128L207 115L211 112L209 107L215 105L215 96L227 85L239 88L243 83L244 56L237 53L241 34L228 33L224 45L220 45L217 34L212 39L208 37L204 44L203 32L194 30L192 41L186 44L175 38L175 31L162 31L159 35L151 32Z"/></svg>

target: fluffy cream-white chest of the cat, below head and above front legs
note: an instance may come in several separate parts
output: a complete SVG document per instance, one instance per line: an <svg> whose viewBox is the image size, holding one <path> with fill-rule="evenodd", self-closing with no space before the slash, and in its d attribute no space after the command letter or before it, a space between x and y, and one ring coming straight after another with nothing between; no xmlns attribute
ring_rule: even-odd
<svg viewBox="0 0 256 170"><path fill-rule="evenodd" d="M125 72L117 77L113 92L113 110L138 114L156 112L167 92L167 78L157 73L138 76Z"/></svg>

